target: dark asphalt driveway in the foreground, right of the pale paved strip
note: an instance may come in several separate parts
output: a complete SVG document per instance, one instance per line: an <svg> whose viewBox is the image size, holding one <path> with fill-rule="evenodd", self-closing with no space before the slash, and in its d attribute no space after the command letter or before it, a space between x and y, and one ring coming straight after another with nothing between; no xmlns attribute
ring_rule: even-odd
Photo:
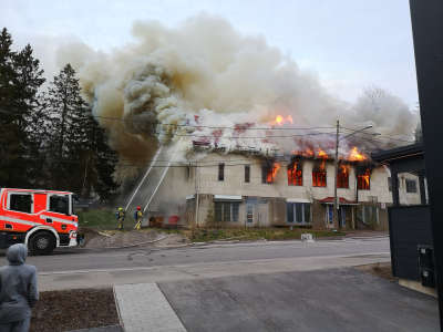
<svg viewBox="0 0 443 332"><path fill-rule="evenodd" d="M435 299L352 268L158 286L188 332L439 331Z"/></svg>

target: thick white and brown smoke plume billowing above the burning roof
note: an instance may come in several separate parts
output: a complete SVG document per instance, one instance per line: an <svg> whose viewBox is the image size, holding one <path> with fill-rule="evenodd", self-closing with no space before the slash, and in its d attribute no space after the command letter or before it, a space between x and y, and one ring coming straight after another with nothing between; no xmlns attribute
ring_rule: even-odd
<svg viewBox="0 0 443 332"><path fill-rule="evenodd" d="M337 118L350 127L372 124L381 134L411 136L415 127L399 98L372 90L349 105L264 38L241 35L219 18L198 15L175 29L137 22L133 35L134 43L111 53L61 50L63 61L79 70L122 164L145 166L159 144L179 144L182 159L195 144L226 152L250 147L262 155L329 149L333 134L310 127L331 127ZM275 131L277 115L308 128ZM134 175L132 169L122 167L117 176Z"/></svg>

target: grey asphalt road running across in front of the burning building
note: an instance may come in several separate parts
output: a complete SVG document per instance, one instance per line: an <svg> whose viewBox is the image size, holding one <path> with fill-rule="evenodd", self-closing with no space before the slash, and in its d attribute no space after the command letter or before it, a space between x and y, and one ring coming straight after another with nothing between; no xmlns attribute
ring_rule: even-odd
<svg viewBox="0 0 443 332"><path fill-rule="evenodd" d="M210 245L167 250L150 247L103 251L63 249L55 251L52 256L29 257L27 262L34 264L39 272L61 272L381 252L389 252L388 237L320 240L313 243L281 241ZM6 263L4 252L2 252L0 264Z"/></svg>

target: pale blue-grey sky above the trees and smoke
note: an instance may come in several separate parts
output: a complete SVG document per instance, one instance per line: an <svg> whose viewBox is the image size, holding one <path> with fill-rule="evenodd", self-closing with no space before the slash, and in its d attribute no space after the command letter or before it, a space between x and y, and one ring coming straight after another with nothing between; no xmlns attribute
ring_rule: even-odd
<svg viewBox="0 0 443 332"><path fill-rule="evenodd" d="M406 0L0 0L0 27L17 46L30 43L47 76L60 69L56 50L81 41L110 51L131 42L137 20L176 27L202 12L262 35L315 73L334 96L354 102L377 86L415 108L415 64Z"/></svg>

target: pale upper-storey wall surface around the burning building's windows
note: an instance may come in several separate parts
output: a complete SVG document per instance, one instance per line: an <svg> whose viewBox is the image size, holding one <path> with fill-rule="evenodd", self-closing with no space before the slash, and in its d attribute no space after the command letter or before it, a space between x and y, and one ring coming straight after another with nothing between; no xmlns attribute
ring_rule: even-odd
<svg viewBox="0 0 443 332"><path fill-rule="evenodd" d="M225 179L218 180L218 164L225 164ZM333 196L333 163L328 162L327 187L312 187L312 166L315 162L303 160L303 186L289 186L287 179L287 162L279 162L280 169L274 184L261 183L262 160L257 157L244 155L208 154L198 162L198 167L190 169L190 176L186 167L172 167L165 177L157 195L153 199L152 210L182 209L186 204L186 196L194 195L196 187L200 194L212 195L239 195L259 197L284 197L301 199L323 199ZM245 183L245 164L250 165L250 183ZM358 190L359 201L372 201L377 197L378 203L392 203L392 194L389 191L389 172L384 167L372 170L370 190ZM403 175L402 175L403 176ZM404 178L416 178L414 175L404 175ZM420 188L418 193L406 194L404 180L400 180L400 200L402 204L420 204ZM339 197L349 200L357 199L356 173L350 166L349 188L338 189ZM245 214L241 211L241 214Z"/></svg>

